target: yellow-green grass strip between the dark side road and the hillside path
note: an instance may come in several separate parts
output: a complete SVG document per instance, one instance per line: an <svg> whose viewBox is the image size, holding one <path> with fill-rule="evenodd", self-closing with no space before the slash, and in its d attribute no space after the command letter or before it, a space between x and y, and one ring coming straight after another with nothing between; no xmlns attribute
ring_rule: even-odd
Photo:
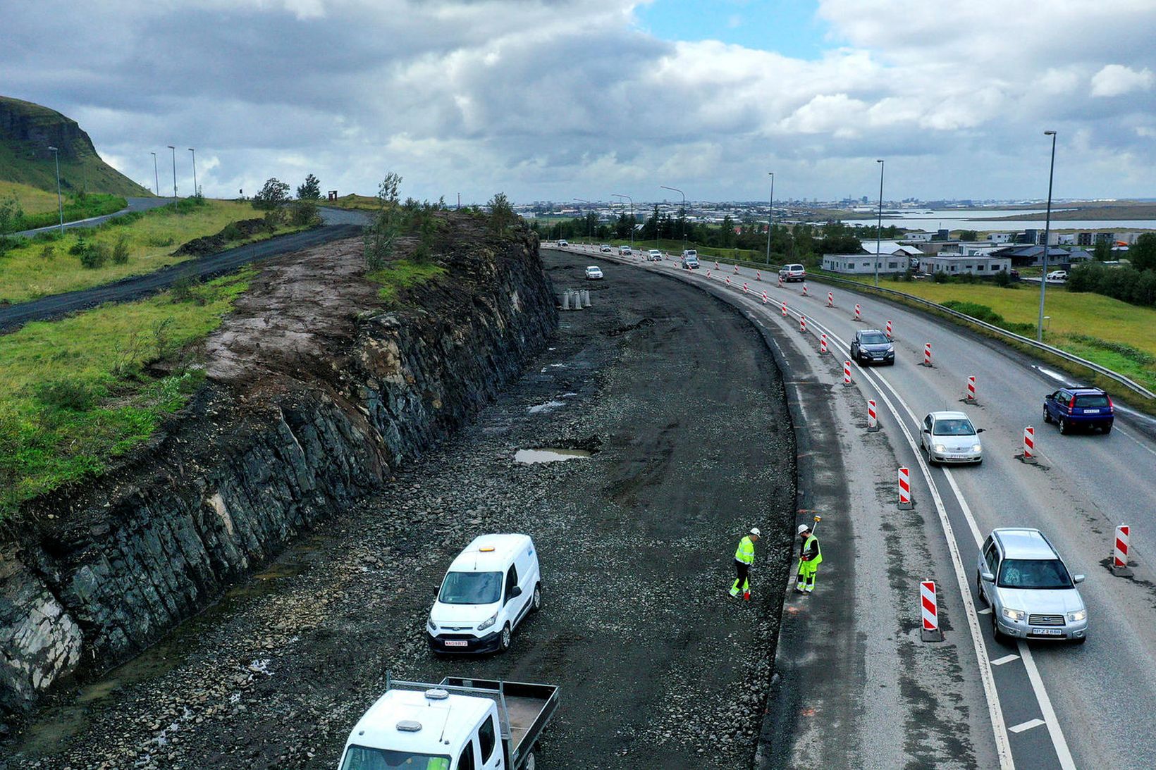
<svg viewBox="0 0 1156 770"><path fill-rule="evenodd" d="M162 206L127 214L95 229L79 228L65 230L64 236L49 232L21 239L20 246L0 253L0 302L27 302L176 265L192 259L171 254L180 244L220 232L230 222L260 215L247 202L206 200L203 205L197 205L185 199L176 208ZM276 234L262 234L229 245L237 246L301 229L304 228L282 225ZM109 260L103 267L84 268L77 257L68 253L80 238L88 244L103 244L110 250L124 238L128 258L120 265Z"/></svg>

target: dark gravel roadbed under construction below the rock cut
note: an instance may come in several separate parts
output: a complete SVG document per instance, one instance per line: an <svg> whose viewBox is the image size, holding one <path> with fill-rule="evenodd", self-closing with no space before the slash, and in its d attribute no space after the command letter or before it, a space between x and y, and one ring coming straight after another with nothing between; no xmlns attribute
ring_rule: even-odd
<svg viewBox="0 0 1156 770"><path fill-rule="evenodd" d="M332 768L385 673L557 683L548 768L749 767L794 519L794 444L762 338L691 287L547 254L590 288L498 403L136 661L47 709L0 768ZM741 417L741 419L740 419ZM587 459L513 460L581 447ZM755 598L731 599L762 527ZM512 650L440 660L433 591L482 532L526 532L543 610Z"/></svg>

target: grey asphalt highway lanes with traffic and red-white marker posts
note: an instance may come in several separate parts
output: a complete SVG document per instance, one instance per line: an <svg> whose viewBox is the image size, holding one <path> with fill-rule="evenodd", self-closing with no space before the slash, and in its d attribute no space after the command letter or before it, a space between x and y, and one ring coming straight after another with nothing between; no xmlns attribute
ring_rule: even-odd
<svg viewBox="0 0 1156 770"><path fill-rule="evenodd" d="M592 262L610 261L606 257L598 254ZM740 297L761 323L777 328L786 346L809 356L815 371L831 383L842 382L842 362L850 357L847 347L855 330L882 330L891 320L895 367L864 370L852 364L854 386L849 390L858 393L864 422L866 399L879 402L881 432L894 465L912 469L917 511L929 527L940 528L946 548L926 564L926 577L936 579L941 593L963 607L965 616L947 634L971 647L975 668L965 679L978 676L980 687L972 688L968 706L972 715L990 719L986 740L991 750L1002 767L1156 764L1156 733L1149 728L1156 705L1156 575L1148 562L1156 538L1153 421L1118 410L1110 435L1060 436L1054 425L1043 423L1043 397L1067 378L986 338L846 289L833 289L835 306L828 308L830 287L812 283L810 296L805 297L799 283L778 287L776 273L756 281L754 271L740 268L736 274L722 262L716 269L713 261L704 261L699 271L638 258L629 265ZM749 294L743 294L743 283ZM787 302L786 318L783 301ZM855 303L862 321L853 318ZM799 332L800 314L807 317L806 334ZM831 350L825 362L818 353L822 333L828 334ZM920 365L926 342L932 345L931 368ZM977 406L961 402L968 376L977 378ZM938 409L963 409L986 429L981 466L932 468L917 456L919 421ZM1036 428L1040 462L1035 466L1015 457L1022 450L1025 425ZM861 440L873 440L858 424L849 428ZM891 490L894 473L892 467ZM1133 527L1134 578L1116 577L1107 569L1118 524ZM983 539L1001 526L1038 527L1073 572L1087 575L1080 586L1089 608L1087 644L993 641L990 610L975 588L976 560ZM911 612L918 617L918 585L911 586Z"/></svg>

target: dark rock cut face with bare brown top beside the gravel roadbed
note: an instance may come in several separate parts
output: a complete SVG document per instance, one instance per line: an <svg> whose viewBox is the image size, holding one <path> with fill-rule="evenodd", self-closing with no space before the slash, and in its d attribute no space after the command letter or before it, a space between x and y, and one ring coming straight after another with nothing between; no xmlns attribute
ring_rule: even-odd
<svg viewBox="0 0 1156 770"><path fill-rule="evenodd" d="M0 709L156 642L519 376L557 325L536 240L451 222L447 275L392 310L360 242L262 268L193 402L120 467L34 501L0 543Z"/></svg>

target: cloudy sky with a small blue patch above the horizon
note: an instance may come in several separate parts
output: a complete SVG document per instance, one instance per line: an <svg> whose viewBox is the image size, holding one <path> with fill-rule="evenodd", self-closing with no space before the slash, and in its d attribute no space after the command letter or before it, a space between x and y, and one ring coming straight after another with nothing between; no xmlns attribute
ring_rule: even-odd
<svg viewBox="0 0 1156 770"><path fill-rule="evenodd" d="M0 0L0 92L153 186L1156 197L1153 0ZM164 157L164 156L162 156ZM162 191L171 188L171 160Z"/></svg>

